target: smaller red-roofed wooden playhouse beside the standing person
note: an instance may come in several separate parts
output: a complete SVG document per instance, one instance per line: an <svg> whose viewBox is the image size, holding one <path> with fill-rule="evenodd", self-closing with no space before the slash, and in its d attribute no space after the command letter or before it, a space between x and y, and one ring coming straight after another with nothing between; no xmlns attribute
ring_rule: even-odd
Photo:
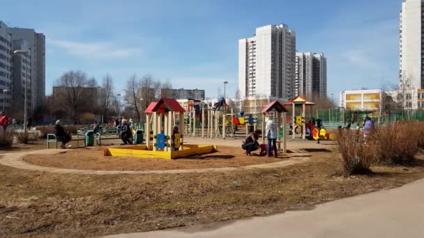
<svg viewBox="0 0 424 238"><path fill-rule="evenodd" d="M268 106L266 106L262 110L262 143L265 143L265 117L269 116L272 118L272 120L277 124L277 134L278 134L278 150L281 150L281 143L282 143L282 152L287 152L287 141L285 138L285 128L286 128L286 122L287 122L287 109L280 104L278 101L273 101Z"/></svg>

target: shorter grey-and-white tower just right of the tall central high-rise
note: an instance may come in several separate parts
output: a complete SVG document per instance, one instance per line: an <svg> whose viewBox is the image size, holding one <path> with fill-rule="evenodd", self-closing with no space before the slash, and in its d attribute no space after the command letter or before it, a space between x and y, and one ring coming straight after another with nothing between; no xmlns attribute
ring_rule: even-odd
<svg viewBox="0 0 424 238"><path fill-rule="evenodd" d="M296 52L294 95L308 100L327 95L327 60L324 54Z"/></svg>

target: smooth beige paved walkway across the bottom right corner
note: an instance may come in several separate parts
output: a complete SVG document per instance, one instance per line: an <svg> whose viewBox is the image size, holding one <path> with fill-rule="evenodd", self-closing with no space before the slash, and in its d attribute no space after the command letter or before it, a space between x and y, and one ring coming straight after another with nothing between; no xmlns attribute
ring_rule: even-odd
<svg viewBox="0 0 424 238"><path fill-rule="evenodd" d="M107 238L422 238L423 198L424 180L419 180L398 189L324 203L309 211Z"/></svg>

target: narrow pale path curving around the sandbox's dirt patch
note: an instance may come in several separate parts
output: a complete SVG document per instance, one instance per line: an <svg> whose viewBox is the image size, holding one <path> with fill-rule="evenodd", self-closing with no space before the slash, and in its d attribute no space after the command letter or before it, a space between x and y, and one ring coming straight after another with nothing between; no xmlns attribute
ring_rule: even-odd
<svg viewBox="0 0 424 238"><path fill-rule="evenodd" d="M14 168L20 168L24 170L34 170L34 171L44 171L52 173L77 173L82 175L114 175L114 174L150 174L150 173L202 173L202 172L223 172L229 170L240 170L240 169L253 169L253 168L280 168L289 166L292 164L298 164L302 161L309 159L308 154L290 154L292 157L287 157L283 161L278 161L270 164L255 164L251 166L239 166L239 167L224 167L224 168L195 168L195 169L174 169L174 170L78 170L78 169L68 169L68 168L52 168L52 167L43 167L36 166L34 164L29 164L22 158L29 154L60 154L61 152L66 152L66 150L50 149L50 150L36 150L31 152L19 152L19 153L8 153L0 154L0 164L4 166L10 166ZM59 157L60 155L58 155Z"/></svg>

